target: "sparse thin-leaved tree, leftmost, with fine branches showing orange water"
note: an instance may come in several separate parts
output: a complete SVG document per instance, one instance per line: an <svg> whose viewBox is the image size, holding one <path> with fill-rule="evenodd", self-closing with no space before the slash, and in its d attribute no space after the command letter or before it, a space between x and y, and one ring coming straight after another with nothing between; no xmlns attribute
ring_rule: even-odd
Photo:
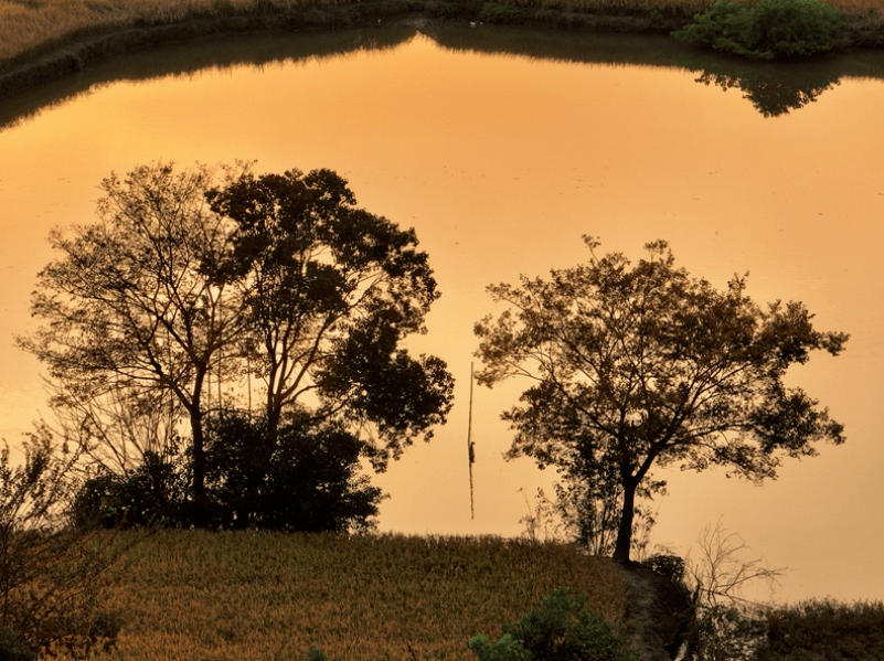
<svg viewBox="0 0 884 661"><path fill-rule="evenodd" d="M183 409L198 512L206 380L242 333L238 297L207 268L226 255L231 226L205 201L215 177L153 164L105 179L97 222L51 233L62 256L40 271L31 306L44 324L18 339L49 367L55 404L68 411L111 396L136 412L162 402L158 393Z"/></svg>

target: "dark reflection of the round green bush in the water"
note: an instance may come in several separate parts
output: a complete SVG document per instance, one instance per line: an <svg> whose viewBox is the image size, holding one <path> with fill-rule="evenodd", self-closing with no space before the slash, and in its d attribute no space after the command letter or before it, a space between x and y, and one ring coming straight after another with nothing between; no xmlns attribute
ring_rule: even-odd
<svg viewBox="0 0 884 661"><path fill-rule="evenodd" d="M789 110L803 108L816 102L827 89L840 84L840 76L810 70L809 74L818 74L796 79L777 72L753 72L743 75L704 71L696 78L697 83L715 85L724 90L736 88L743 92L743 98L765 117L778 117Z"/></svg>

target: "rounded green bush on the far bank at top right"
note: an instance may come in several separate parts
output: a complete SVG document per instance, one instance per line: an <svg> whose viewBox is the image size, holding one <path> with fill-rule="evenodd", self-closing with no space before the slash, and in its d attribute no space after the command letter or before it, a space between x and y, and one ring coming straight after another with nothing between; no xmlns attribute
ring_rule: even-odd
<svg viewBox="0 0 884 661"><path fill-rule="evenodd" d="M818 0L718 0L673 32L681 41L761 60L805 57L841 47L841 13Z"/></svg>

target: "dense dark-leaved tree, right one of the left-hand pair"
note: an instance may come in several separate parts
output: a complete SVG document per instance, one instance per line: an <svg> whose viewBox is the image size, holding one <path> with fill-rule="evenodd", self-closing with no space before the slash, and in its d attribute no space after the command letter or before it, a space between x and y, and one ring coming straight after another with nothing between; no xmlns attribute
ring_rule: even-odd
<svg viewBox="0 0 884 661"><path fill-rule="evenodd" d="M232 218L219 282L243 297L249 370L266 385L267 434L310 397L315 419L370 429L375 468L444 423L454 382L445 362L400 347L426 332L439 294L414 230L358 207L330 170L255 177L209 192Z"/></svg>

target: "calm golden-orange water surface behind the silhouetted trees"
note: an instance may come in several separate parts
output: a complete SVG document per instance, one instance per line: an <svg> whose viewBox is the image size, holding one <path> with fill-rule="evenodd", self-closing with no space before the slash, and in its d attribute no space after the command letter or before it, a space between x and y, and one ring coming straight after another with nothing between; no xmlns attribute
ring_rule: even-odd
<svg viewBox="0 0 884 661"><path fill-rule="evenodd" d="M668 475L654 541L685 553L723 516L752 557L794 569L779 598L882 599L880 60L750 67L669 40L402 28L166 49L0 105L2 436L17 440L43 406L39 365L11 338L31 328L44 237L93 217L102 178L156 159L326 167L362 205L417 230L443 298L412 344L458 377L447 427L375 479L392 495L382 530L521 532L525 495L553 477L501 459L498 414L524 384L476 392L469 515L471 327L494 311L483 287L585 259L585 233L633 258L665 238L694 275L723 287L748 270L756 299L802 300L852 339L794 373L848 444L761 488Z"/></svg>

